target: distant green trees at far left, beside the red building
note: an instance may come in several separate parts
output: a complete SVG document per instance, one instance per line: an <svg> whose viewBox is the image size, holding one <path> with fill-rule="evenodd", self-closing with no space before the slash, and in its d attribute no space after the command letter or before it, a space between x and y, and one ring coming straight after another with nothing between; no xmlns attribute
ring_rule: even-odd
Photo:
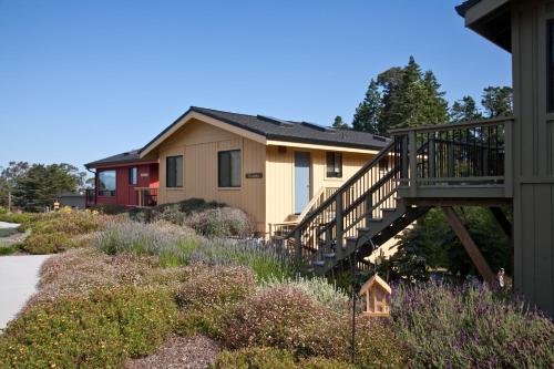
<svg viewBox="0 0 554 369"><path fill-rule="evenodd" d="M10 162L0 173L0 202L6 203L8 192L13 204L28 212L39 212L64 192L82 187L85 174L70 164L29 164Z"/></svg>

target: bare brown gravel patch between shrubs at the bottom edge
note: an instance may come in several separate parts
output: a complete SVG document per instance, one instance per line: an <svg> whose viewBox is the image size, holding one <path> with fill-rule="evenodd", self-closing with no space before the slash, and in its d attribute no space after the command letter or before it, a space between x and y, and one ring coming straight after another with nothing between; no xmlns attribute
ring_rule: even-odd
<svg viewBox="0 0 554 369"><path fill-rule="evenodd" d="M131 360L126 369L204 369L219 352L216 341L204 337L171 335L156 353Z"/></svg>

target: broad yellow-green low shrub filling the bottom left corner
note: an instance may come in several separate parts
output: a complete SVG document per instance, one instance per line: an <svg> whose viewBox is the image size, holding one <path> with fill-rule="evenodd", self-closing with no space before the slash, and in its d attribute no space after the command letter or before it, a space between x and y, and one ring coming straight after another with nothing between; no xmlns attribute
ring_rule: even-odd
<svg viewBox="0 0 554 369"><path fill-rule="evenodd" d="M32 307L0 336L0 367L116 368L152 353L175 316L162 289L96 290Z"/></svg>

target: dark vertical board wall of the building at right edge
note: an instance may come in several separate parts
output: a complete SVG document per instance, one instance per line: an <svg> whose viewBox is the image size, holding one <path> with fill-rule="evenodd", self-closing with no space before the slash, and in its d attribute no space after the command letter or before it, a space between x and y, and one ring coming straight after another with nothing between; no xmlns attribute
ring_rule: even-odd
<svg viewBox="0 0 554 369"><path fill-rule="evenodd" d="M554 316L554 132L546 101L546 0L512 6L514 281ZM550 117L548 117L550 116Z"/></svg>

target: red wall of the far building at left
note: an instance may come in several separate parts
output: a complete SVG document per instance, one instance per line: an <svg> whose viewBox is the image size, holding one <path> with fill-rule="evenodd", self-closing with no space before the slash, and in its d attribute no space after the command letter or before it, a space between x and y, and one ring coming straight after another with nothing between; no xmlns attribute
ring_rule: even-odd
<svg viewBox="0 0 554 369"><path fill-rule="evenodd" d="M136 167L138 170L138 178L136 185L129 184L129 170ZM96 204L106 205L137 205L137 197L135 187L151 187L157 188L158 181L158 164L136 164L124 165L116 167L102 167L98 168L96 173L103 171L115 171L115 196L99 196L99 181L96 176Z"/></svg>

